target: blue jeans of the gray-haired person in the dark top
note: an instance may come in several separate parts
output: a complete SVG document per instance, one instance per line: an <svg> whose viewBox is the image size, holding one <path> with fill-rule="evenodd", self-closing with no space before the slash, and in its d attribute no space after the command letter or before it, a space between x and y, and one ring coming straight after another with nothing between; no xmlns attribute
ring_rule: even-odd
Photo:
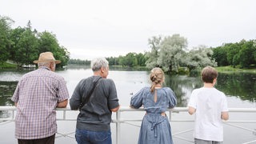
<svg viewBox="0 0 256 144"><path fill-rule="evenodd" d="M109 131L75 131L75 139L78 144L112 144L111 132Z"/></svg>

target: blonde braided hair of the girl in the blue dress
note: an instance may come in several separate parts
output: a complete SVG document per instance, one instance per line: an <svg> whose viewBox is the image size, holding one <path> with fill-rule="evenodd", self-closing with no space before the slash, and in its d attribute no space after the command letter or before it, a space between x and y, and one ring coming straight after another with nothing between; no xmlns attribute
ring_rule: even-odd
<svg viewBox="0 0 256 144"><path fill-rule="evenodd" d="M152 85L150 87L150 91L154 91L154 87L157 84L162 84L165 80L165 74L163 73L162 69L159 67L155 67L150 71L150 81L152 82Z"/></svg>

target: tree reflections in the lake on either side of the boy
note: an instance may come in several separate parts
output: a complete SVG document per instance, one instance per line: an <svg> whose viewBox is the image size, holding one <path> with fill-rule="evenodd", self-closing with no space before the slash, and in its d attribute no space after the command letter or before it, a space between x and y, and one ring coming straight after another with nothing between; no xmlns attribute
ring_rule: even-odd
<svg viewBox="0 0 256 144"><path fill-rule="evenodd" d="M187 106L192 90L202 86L200 76L166 76L166 86L177 94L178 106ZM215 86L228 97L256 102L256 74L219 74Z"/></svg>

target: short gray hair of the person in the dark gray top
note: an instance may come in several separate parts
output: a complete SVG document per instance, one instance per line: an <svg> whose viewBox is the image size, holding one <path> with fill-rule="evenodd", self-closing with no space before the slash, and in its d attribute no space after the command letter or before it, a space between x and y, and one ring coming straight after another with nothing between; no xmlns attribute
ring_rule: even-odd
<svg viewBox="0 0 256 144"><path fill-rule="evenodd" d="M106 68L107 66L109 66L109 62L106 60L106 58L94 58L90 62L90 67L93 71L98 71L102 67Z"/></svg>

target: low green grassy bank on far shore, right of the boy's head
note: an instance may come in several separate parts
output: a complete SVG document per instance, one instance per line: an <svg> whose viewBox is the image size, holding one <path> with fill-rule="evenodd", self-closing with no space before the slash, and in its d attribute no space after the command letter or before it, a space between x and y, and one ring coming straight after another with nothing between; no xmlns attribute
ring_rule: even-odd
<svg viewBox="0 0 256 144"><path fill-rule="evenodd" d="M215 67L216 70L218 70L219 73L254 73L256 74L256 68L251 69L240 69L240 68L234 68L233 66L218 66Z"/></svg>

